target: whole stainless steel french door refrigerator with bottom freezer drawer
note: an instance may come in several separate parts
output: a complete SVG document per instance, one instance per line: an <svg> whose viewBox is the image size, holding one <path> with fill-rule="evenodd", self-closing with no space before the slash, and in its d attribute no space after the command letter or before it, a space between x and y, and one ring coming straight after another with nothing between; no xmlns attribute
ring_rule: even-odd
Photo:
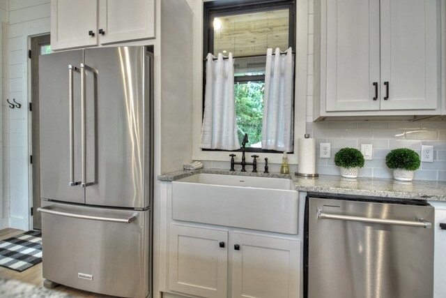
<svg viewBox="0 0 446 298"><path fill-rule="evenodd" d="M152 76L146 47L40 56L45 285L151 294Z"/></svg>

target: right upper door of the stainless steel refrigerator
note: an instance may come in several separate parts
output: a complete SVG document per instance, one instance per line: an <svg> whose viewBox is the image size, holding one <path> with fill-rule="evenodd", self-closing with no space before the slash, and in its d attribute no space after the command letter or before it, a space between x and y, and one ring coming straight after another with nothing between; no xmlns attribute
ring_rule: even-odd
<svg viewBox="0 0 446 298"><path fill-rule="evenodd" d="M86 165L87 172L94 172L87 181L86 204L130 208L149 205L151 178L146 177L145 169L149 168L150 151L146 150L150 147L146 142L151 133L146 119L145 59L145 47L85 50L86 68L95 76L94 84L86 87L86 94L94 94L86 98L86 105L95 108L94 119L87 122L87 156L92 156L91 150L95 156L94 163ZM92 133L94 140L89 137ZM90 147L92 142L94 149Z"/></svg>

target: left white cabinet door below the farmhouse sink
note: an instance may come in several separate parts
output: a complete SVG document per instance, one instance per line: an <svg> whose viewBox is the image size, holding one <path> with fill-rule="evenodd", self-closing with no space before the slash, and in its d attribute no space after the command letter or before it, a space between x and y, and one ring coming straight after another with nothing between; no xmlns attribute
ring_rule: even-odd
<svg viewBox="0 0 446 298"><path fill-rule="evenodd" d="M228 232L171 225L169 290L226 298Z"/></svg>

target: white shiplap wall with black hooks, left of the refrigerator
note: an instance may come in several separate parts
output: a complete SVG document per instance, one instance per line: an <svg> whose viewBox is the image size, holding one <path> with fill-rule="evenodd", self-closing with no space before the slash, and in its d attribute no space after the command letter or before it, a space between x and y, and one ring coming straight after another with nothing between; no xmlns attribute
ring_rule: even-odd
<svg viewBox="0 0 446 298"><path fill-rule="evenodd" d="M49 32L49 0L9 0L8 11L6 47L3 46L3 61L7 61L6 71L3 70L3 82L6 82L3 101L15 98L22 107L10 109L3 102L3 206L7 207L11 228L28 230L31 206L28 103L31 99L27 50L29 36Z"/></svg>

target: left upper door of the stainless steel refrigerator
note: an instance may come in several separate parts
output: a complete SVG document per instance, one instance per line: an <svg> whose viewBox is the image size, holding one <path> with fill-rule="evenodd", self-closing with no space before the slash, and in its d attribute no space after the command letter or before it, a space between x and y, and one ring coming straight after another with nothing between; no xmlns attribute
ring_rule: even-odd
<svg viewBox="0 0 446 298"><path fill-rule="evenodd" d="M80 167L79 73L73 70L74 145L70 154L70 100L68 66L79 66L82 50L39 57L40 197L84 203ZM73 166L74 177L70 177ZM71 184L75 184L70 186Z"/></svg>

